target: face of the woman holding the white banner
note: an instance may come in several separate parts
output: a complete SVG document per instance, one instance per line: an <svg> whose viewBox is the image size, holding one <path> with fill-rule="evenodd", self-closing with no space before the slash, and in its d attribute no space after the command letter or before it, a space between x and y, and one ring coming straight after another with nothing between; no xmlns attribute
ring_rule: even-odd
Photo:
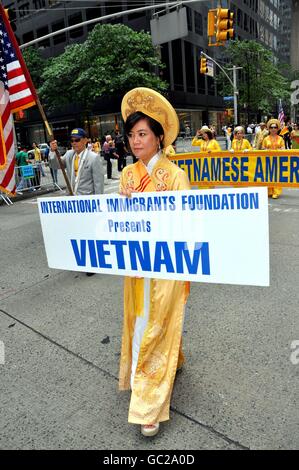
<svg viewBox="0 0 299 470"><path fill-rule="evenodd" d="M132 127L128 139L133 154L136 158L142 160L145 165L158 152L160 139L155 136L146 119L140 119Z"/></svg>

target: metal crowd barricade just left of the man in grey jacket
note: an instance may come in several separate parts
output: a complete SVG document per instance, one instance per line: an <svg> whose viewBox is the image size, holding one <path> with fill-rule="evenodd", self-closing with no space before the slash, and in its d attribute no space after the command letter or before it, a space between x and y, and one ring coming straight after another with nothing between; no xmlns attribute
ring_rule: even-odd
<svg viewBox="0 0 299 470"><path fill-rule="evenodd" d="M63 191L65 183L61 170L52 170L45 162L34 162L15 167L17 194L40 191L42 189L58 189Z"/></svg>

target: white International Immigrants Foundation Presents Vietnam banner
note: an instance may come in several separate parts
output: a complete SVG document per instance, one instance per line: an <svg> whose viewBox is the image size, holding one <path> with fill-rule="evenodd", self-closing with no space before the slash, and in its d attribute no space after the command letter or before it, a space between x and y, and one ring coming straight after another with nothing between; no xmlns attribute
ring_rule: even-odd
<svg viewBox="0 0 299 470"><path fill-rule="evenodd" d="M50 268L269 285L267 188L39 198Z"/></svg>

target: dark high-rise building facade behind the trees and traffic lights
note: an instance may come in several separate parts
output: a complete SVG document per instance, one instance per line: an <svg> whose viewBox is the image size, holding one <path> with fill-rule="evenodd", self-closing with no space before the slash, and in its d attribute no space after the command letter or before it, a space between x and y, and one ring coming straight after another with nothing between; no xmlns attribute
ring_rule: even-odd
<svg viewBox="0 0 299 470"><path fill-rule="evenodd" d="M231 8L235 14L236 36L240 39L256 39L273 50L279 60L285 61L290 48L283 39L281 26L284 19L280 3L289 0L232 0L222 1L223 8ZM146 5L162 3L158 0L145 2ZM165 2L167 6L168 2ZM176 108L181 135L186 129L194 133L202 124L214 124L220 129L225 122L225 104L217 96L215 81L211 77L200 74L200 52L204 51L217 57L220 48L208 48L207 13L210 8L217 8L218 0L195 2L186 5L188 35L162 44L159 47L161 59L166 68L162 71L163 78L169 83L169 99ZM150 20L159 10L133 11L136 2L119 0L109 1L59 1L59 0L5 0L4 5L15 12L11 17L15 34L20 44L60 31L68 26L79 25L82 22L102 17L115 12L127 12L123 16L106 20L109 23L123 23L135 30L150 31ZM164 11L161 11L164 10ZM160 8L160 15L167 13ZM105 21L104 21L105 22ZM62 53L65 46L83 42L96 23L78 26L71 31L65 31L56 36L40 41L44 57L53 57ZM217 51L218 49L218 51ZM221 48L222 49L222 48ZM286 60L287 61L287 60ZM118 99L99 100L94 107L94 114L88 122L82 122L80 110L70 107L59 114L50 115L58 139L65 139L71 127L84 125L92 136L98 137L105 132L111 132L115 125L121 123L120 97ZM19 126L26 129L20 136L23 140L45 140L45 131L39 122L36 112L28 110L29 119Z"/></svg>

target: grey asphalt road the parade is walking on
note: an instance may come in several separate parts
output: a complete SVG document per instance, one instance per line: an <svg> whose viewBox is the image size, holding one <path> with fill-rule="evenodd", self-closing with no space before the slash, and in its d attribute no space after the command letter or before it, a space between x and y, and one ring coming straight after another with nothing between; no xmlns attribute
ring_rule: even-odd
<svg viewBox="0 0 299 470"><path fill-rule="evenodd" d="M299 191L269 202L271 286L192 285L153 439L117 388L122 278L49 269L36 198L0 205L0 448L298 449Z"/></svg>

